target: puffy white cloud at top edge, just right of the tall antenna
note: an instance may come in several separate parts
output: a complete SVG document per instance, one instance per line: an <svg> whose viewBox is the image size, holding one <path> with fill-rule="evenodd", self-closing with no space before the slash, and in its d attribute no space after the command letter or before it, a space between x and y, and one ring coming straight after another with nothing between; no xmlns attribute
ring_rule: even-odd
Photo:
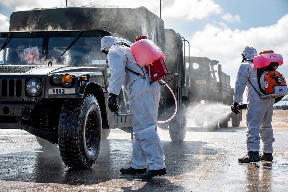
<svg viewBox="0 0 288 192"><path fill-rule="evenodd" d="M187 21L204 19L212 14L221 14L223 9L212 0L175 0L163 8L163 18L183 18Z"/></svg>

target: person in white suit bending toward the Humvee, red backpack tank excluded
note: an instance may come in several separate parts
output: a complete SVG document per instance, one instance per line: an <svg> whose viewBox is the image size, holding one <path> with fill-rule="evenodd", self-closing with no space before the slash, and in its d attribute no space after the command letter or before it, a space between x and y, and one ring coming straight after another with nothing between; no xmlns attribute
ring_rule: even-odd
<svg viewBox="0 0 288 192"><path fill-rule="evenodd" d="M101 51L107 55L111 70L108 107L118 111L116 98L122 85L128 94L128 105L133 119L132 165L122 168L124 174L137 174L139 178L152 178L166 174L160 138L156 132L160 88L157 82L150 84L143 78L126 39L106 36L101 40ZM147 172L147 164L149 170Z"/></svg>

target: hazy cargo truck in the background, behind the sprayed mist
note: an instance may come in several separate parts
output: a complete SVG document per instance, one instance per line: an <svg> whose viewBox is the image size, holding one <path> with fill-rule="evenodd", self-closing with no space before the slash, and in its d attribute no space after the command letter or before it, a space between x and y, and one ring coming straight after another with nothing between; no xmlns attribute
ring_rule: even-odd
<svg viewBox="0 0 288 192"><path fill-rule="evenodd" d="M217 66L217 70L214 66ZM190 106L197 107L196 117L202 117L195 119L196 125L202 126L207 121L210 128L216 129L218 123L220 128L227 128L231 119L232 126L238 127L242 120L242 111L238 115L220 115L217 119L217 110L204 110L209 109L211 104L230 107L233 102L234 89L230 86L230 76L222 71L221 64L207 57L185 57L185 69L190 71L186 73L186 82L189 82L190 87ZM187 118L193 119L193 115Z"/></svg>

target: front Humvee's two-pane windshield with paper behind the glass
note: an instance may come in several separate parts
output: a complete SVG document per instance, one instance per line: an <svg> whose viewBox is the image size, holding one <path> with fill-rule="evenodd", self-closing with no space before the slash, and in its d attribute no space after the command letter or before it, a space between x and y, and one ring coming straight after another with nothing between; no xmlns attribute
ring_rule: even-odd
<svg viewBox="0 0 288 192"><path fill-rule="evenodd" d="M101 53L102 37L79 37L63 54L75 37L0 38L0 65L53 65L89 66L106 64ZM44 47L43 47L44 46ZM45 47L47 46L47 47ZM61 56L63 54L63 56Z"/></svg>

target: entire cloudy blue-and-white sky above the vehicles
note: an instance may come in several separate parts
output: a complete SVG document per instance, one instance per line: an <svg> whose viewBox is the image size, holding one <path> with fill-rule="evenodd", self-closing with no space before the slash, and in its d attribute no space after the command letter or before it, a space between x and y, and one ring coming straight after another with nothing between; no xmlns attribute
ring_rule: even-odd
<svg viewBox="0 0 288 192"><path fill-rule="evenodd" d="M160 17L160 0L67 0L78 5L141 5ZM14 11L65 6L66 0L0 0L0 31L9 30ZM218 60L234 88L246 46L281 54L278 71L288 79L287 7L287 0L161 0L161 18L190 42L190 56Z"/></svg>

